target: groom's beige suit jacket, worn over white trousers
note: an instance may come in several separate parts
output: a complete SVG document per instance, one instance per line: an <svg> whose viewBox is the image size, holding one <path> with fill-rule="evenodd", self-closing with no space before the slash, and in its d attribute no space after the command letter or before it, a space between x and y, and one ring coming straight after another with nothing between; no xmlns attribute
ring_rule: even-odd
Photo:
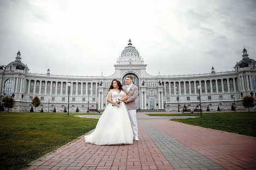
<svg viewBox="0 0 256 170"><path fill-rule="evenodd" d="M127 86L123 87L126 95L127 95L127 100L125 100L126 102L126 107L129 110L136 110L136 103L135 100L138 97L138 87L135 86L135 84L132 84L131 88L129 89L129 91L127 92Z"/></svg>

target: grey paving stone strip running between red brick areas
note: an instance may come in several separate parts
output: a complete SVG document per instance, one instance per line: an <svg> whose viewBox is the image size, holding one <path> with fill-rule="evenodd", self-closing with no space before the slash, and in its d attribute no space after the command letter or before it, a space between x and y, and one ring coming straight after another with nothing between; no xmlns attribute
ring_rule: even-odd
<svg viewBox="0 0 256 170"><path fill-rule="evenodd" d="M195 150L190 149L184 144L179 143L166 133L150 125L146 120L139 119L138 122L144 127L149 137L171 163L174 169L224 169L217 163L207 159L207 157L197 153Z"/></svg>

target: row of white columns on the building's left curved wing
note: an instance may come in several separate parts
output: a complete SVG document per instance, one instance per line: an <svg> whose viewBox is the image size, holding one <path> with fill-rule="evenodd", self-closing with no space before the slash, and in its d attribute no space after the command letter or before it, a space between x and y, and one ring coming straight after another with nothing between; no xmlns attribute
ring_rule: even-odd
<svg viewBox="0 0 256 170"><path fill-rule="evenodd" d="M41 91L42 91L42 80L39 80L39 94L41 94ZM44 95L46 95L46 92L47 92L47 83L50 82L50 95L53 93L53 82L55 82L55 95L57 95L57 84L59 82L57 81L44 81L45 82L45 86L44 86ZM37 80L34 80L34 87L33 87L33 94L36 94L36 83L37 83ZM61 94L63 95L62 93L62 90L63 90L63 81L61 81L61 88L60 88L60 91L61 91ZM65 94L64 95L68 95L68 86L67 84L69 82L65 82L66 83L66 91L65 91ZM81 95L83 93L83 83L86 83L86 88L85 88L85 95L88 96L88 83L89 82L70 82L71 83L71 87L70 87L70 93L69 95L73 95L73 83L76 83L76 86L75 86L75 95L78 95L78 83L81 83ZM96 84L96 92L97 92L97 82L90 82L91 83L91 88L90 88L90 95L92 95L92 90L93 90L93 86L92 84L95 83ZM28 80L28 93L30 94L30 86L31 86L31 80ZM96 93L97 94L97 93Z"/></svg>

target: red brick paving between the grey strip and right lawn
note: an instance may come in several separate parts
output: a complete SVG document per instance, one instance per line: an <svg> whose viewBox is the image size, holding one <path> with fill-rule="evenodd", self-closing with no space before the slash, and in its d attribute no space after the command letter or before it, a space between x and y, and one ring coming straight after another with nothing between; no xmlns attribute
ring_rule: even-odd
<svg viewBox="0 0 256 170"><path fill-rule="evenodd" d="M148 120L148 122L226 169L256 169L254 137L170 120Z"/></svg>

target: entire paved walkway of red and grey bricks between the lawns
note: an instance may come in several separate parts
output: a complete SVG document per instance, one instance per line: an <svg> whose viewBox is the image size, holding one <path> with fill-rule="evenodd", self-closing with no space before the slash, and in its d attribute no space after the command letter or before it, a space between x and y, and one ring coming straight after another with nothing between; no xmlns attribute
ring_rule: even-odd
<svg viewBox="0 0 256 170"><path fill-rule="evenodd" d="M169 120L177 117L137 118L132 145L94 145L80 136L27 169L256 169L254 137Z"/></svg>

